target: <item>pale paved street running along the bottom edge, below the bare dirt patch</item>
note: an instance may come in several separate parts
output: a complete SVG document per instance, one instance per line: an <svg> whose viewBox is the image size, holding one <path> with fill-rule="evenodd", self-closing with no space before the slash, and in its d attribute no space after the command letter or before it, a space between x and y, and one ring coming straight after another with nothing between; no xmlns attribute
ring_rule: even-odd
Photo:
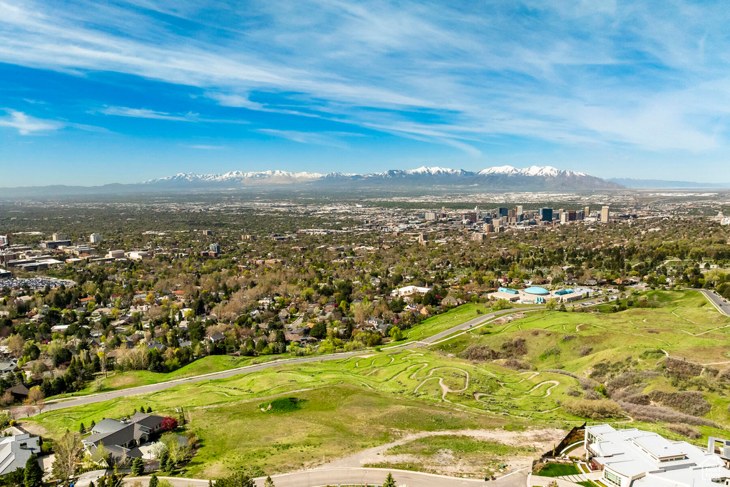
<svg viewBox="0 0 730 487"><path fill-rule="evenodd" d="M380 486L385 480L388 472L393 474L397 486L407 485L409 487L523 487L527 483L527 470L520 470L498 480L474 480L468 478L446 477L445 475L432 475L422 472L410 472L407 470L391 469L366 469L366 468L345 468L345 469L314 469L304 472L292 472L281 475L272 475L276 487L322 487L337 486L339 484L364 486ZM169 480L173 487L207 487L207 480L160 477ZM139 480L142 485L147 486L148 477L125 478L125 485L131 486ZM256 478L256 487L263 487L266 478Z"/></svg>

